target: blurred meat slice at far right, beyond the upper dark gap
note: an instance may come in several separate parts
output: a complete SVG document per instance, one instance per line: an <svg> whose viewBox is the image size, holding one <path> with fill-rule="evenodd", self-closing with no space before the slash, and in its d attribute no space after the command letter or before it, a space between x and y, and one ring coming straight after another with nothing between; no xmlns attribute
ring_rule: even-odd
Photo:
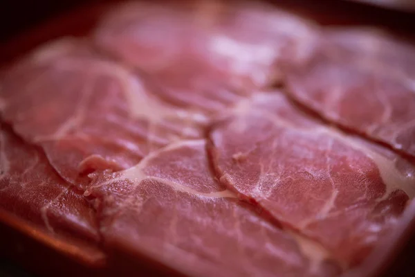
<svg viewBox="0 0 415 277"><path fill-rule="evenodd" d="M291 95L333 123L415 157L415 48L374 30L327 30L287 73Z"/></svg>

